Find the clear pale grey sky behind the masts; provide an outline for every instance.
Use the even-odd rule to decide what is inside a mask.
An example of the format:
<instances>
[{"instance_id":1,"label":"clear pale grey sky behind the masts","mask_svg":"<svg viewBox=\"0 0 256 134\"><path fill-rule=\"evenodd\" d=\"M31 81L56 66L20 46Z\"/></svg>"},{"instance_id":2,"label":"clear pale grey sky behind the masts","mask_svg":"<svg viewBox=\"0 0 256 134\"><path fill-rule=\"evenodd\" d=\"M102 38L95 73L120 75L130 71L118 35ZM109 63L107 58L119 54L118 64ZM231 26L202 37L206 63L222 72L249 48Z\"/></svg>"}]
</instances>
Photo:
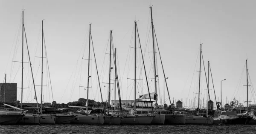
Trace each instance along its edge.
<instances>
[{"instance_id":1,"label":"clear pale grey sky behind the masts","mask_svg":"<svg viewBox=\"0 0 256 134\"><path fill-rule=\"evenodd\" d=\"M152 78L152 39L150 9L153 5L153 21L163 60L171 100L182 100L183 106L191 100L198 101L198 71L200 43L207 70L209 60L217 101L223 105L233 100L244 104L246 100L245 61L248 59L249 100L255 104L253 89L256 80L256 17L253 0L1 0L0 1L0 72L4 81L17 83L21 87L21 17L24 11L24 25L28 40L35 85L41 85L41 20L44 20L44 36L52 81L52 94L57 103L77 101L86 98L86 91L79 86L87 86L88 33L89 23L96 61L102 86L103 100L108 97L109 37L113 29L113 44L117 48L118 68L122 81L121 98L134 100L134 90L128 83L134 78L134 20L137 20L150 91L154 91ZM148 37L149 36L149 37ZM25 41L24 41L24 44ZM24 47L25 49L26 47ZM139 49L137 49L137 52ZM91 51L92 54L92 51ZM139 55L138 53L137 55ZM159 52L157 52L159 54ZM131 55L131 56L130 56ZM89 99L101 101L93 55L91 61L91 79ZM24 61L28 61L24 51ZM137 68L141 68L139 60ZM47 76L44 58L44 76ZM113 64L113 60L112 60ZM163 72L160 60L157 60L159 97L163 96ZM29 70L24 63L23 102L34 102L34 91ZM207 86L202 66L200 98L207 98ZM139 73L140 71L138 71ZM142 72L141 75L144 72ZM113 74L113 73L112 73ZM194 75L193 75L194 74ZM81 78L81 79L80 79ZM138 75L139 79L139 75ZM44 102L52 102L49 83L44 77ZM137 88L139 94L147 93L145 79ZM211 81L211 80L210 80ZM113 83L113 82L111 82ZM113 86L113 84L111 84ZM29 87L29 88L27 88ZM113 87L111 87L113 88ZM165 88L166 89L166 88ZM210 82L210 95L214 92ZM20 88L18 100L20 100ZM36 86L37 96L41 88ZM251 92L253 91L253 93ZM166 92L165 92L166 93ZM111 90L111 100L113 100ZM196 97L197 96L197 97ZM196 97L196 98L195 98ZM226 99L227 98L227 99ZM158 98L161 100L161 98ZM165 94L167 104L170 104ZM187 100L187 101L186 101ZM215 102L215 100L214 100ZM158 102L160 103L160 101Z\"/></svg>"}]
</instances>

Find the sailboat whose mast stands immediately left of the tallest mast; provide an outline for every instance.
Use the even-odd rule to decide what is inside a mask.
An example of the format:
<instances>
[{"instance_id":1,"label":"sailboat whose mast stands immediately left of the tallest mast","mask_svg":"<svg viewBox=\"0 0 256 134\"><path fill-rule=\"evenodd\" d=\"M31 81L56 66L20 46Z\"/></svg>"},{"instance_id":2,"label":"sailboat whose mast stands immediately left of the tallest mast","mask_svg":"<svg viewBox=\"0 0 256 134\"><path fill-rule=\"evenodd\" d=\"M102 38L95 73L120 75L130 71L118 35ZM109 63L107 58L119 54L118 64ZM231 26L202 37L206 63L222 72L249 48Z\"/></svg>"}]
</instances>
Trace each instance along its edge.
<instances>
[{"instance_id":1,"label":"sailboat whose mast stands immediately left of the tallest mast","mask_svg":"<svg viewBox=\"0 0 256 134\"><path fill-rule=\"evenodd\" d=\"M142 102L139 103L136 100L136 49L137 49L137 44L136 44L136 38L137 38L137 22L134 22L135 24L135 30L134 30L134 102L132 103L132 107L131 108L124 108L125 111L128 112L128 114L124 115L121 124L151 124L152 120L154 120L156 114L153 115L153 111L151 111L151 113L148 112L148 109L146 109L144 112L142 112L143 109L139 108L142 105ZM146 104L148 105L148 103ZM144 103L145 106L145 103ZM138 107L138 108L137 108ZM146 107L146 106L145 106ZM153 109L153 108L151 108ZM158 114L157 114L158 115Z\"/></svg>"}]
</instances>

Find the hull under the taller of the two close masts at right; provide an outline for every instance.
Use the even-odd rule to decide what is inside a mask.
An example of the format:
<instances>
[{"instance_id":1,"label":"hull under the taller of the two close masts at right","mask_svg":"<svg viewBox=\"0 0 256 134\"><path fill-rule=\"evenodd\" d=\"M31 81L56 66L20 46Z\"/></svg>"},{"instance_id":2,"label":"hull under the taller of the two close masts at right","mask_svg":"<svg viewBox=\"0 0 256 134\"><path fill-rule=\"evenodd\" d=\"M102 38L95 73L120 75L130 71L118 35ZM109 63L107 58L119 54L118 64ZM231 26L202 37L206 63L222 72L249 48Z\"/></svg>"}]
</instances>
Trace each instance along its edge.
<instances>
[{"instance_id":1,"label":"hull under the taller of the two close masts at right","mask_svg":"<svg viewBox=\"0 0 256 134\"><path fill-rule=\"evenodd\" d=\"M186 116L186 124L209 124L213 123L213 118L202 116Z\"/></svg>"}]
</instances>

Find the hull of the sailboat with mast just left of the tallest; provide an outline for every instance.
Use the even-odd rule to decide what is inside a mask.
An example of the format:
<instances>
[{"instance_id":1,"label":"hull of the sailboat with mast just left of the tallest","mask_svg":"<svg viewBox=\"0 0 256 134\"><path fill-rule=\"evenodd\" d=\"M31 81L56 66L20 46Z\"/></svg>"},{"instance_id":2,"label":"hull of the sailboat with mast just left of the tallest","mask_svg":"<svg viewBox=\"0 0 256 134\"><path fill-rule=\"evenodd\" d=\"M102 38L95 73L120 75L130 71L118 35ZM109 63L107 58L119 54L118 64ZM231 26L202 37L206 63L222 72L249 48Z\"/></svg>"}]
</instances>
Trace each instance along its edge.
<instances>
[{"instance_id":1,"label":"hull of the sailboat with mast just left of the tallest","mask_svg":"<svg viewBox=\"0 0 256 134\"><path fill-rule=\"evenodd\" d=\"M125 116L121 124L150 124L154 116Z\"/></svg>"}]
</instances>

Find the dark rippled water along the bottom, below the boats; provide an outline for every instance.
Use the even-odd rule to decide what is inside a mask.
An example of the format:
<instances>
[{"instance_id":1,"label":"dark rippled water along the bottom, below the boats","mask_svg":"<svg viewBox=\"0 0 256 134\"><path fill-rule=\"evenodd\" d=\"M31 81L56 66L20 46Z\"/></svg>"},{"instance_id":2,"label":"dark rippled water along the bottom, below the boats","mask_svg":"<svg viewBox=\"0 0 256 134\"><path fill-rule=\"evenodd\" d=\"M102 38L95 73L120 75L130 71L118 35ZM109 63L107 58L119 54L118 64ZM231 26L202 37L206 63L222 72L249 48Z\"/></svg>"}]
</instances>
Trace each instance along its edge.
<instances>
[{"instance_id":1,"label":"dark rippled water along the bottom, below the boats","mask_svg":"<svg viewBox=\"0 0 256 134\"><path fill-rule=\"evenodd\" d=\"M256 125L0 125L0 134L256 134Z\"/></svg>"}]
</instances>

